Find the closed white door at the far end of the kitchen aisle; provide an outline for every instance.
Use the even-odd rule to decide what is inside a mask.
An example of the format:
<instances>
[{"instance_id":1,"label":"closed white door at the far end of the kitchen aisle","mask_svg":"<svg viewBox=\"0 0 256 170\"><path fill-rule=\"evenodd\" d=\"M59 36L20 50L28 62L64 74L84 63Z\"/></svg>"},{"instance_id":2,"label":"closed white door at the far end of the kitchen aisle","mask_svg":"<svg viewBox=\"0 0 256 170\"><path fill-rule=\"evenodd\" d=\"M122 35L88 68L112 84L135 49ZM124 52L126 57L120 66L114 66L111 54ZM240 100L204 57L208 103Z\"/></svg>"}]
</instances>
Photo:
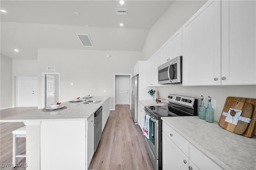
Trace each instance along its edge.
<instances>
[{"instance_id":1,"label":"closed white door at the far end of the kitchen aisle","mask_svg":"<svg viewBox=\"0 0 256 170\"><path fill-rule=\"evenodd\" d=\"M116 104L130 104L130 77L116 77Z\"/></svg>"}]
</instances>

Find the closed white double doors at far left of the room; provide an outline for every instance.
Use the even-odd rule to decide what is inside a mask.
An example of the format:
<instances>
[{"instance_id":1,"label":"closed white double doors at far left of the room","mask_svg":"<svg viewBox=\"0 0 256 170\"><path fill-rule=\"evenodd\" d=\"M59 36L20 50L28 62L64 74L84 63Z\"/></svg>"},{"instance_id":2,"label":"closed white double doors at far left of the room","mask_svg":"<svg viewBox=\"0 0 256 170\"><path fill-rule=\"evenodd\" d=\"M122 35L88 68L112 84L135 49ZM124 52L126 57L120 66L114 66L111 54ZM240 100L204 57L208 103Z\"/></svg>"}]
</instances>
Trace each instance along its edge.
<instances>
[{"instance_id":1,"label":"closed white double doors at far left of the room","mask_svg":"<svg viewBox=\"0 0 256 170\"><path fill-rule=\"evenodd\" d=\"M17 77L17 107L38 106L38 77Z\"/></svg>"}]
</instances>

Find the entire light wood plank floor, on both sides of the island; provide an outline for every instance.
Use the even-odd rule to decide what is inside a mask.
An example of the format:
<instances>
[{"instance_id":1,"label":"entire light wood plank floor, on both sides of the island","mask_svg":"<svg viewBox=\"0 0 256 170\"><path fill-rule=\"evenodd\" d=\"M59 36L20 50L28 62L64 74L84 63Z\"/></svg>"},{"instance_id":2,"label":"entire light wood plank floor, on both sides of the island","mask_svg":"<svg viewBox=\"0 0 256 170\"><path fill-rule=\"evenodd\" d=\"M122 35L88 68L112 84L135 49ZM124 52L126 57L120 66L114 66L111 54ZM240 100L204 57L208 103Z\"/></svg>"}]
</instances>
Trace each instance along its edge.
<instances>
[{"instance_id":1,"label":"entire light wood plank floor, on both sides of the island","mask_svg":"<svg viewBox=\"0 0 256 170\"><path fill-rule=\"evenodd\" d=\"M10 117L26 113L35 107L20 107L1 110L0 117ZM24 123L0 123L0 158L2 163L12 163L12 131ZM19 139L19 151L26 149L26 140ZM26 158L18 158L18 163L26 163ZM1 170L25 170L26 168L3 168ZM144 138L138 125L134 125L130 105L116 105L102 133L100 144L89 169L91 170L153 170L152 163L144 147Z\"/></svg>"}]
</instances>

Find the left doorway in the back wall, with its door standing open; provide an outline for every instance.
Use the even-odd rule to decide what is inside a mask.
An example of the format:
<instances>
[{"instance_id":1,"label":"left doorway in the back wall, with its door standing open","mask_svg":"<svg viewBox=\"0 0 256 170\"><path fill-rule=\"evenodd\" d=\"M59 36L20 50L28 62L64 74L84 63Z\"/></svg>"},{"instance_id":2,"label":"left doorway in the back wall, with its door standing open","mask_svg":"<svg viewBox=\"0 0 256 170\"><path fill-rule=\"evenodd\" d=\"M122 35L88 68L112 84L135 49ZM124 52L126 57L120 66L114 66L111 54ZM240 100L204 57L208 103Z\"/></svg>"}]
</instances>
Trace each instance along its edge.
<instances>
[{"instance_id":1,"label":"left doorway in the back wall, with its door standing open","mask_svg":"<svg viewBox=\"0 0 256 170\"><path fill-rule=\"evenodd\" d=\"M43 73L44 107L60 102L60 73Z\"/></svg>"}]
</instances>

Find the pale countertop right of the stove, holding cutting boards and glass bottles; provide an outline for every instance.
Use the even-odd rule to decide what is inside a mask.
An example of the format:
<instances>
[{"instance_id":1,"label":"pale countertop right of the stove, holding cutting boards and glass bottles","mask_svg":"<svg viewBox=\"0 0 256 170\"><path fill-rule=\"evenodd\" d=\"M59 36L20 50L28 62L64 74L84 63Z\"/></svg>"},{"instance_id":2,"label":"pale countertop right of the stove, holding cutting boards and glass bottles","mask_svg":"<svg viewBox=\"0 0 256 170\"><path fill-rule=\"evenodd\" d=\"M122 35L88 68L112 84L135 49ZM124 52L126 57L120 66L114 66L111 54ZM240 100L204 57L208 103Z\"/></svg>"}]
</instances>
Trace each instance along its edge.
<instances>
[{"instance_id":1,"label":"pale countertop right of the stove, holding cutting boards and glass bottles","mask_svg":"<svg viewBox=\"0 0 256 170\"><path fill-rule=\"evenodd\" d=\"M162 117L191 144L224 169L256 169L256 136L248 138L208 123L197 116Z\"/></svg>"}]
</instances>

